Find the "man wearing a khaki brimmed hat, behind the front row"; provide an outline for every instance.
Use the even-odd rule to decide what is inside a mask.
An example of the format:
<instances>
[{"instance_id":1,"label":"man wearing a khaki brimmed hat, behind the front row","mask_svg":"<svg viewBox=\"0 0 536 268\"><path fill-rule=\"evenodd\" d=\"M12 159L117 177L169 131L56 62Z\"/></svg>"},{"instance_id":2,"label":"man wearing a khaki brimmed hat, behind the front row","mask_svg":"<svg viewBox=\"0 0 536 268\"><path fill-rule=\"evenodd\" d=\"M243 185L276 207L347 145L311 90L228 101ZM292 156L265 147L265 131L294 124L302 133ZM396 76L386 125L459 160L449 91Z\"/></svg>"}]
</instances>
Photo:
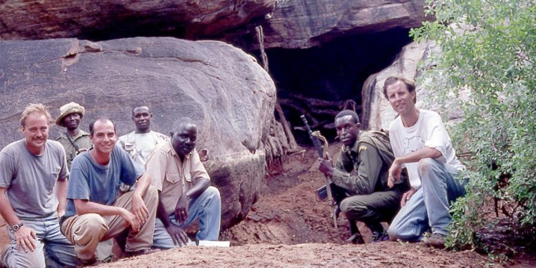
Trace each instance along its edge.
<instances>
[{"instance_id":1,"label":"man wearing a khaki brimmed hat, behind the front row","mask_svg":"<svg viewBox=\"0 0 536 268\"><path fill-rule=\"evenodd\" d=\"M69 169L72 159L77 154L88 151L92 147L88 132L79 129L84 112L86 109L83 106L70 102L59 108L59 116L56 119L56 125L67 129L66 132L61 132L56 141L59 141L65 148Z\"/></svg>"}]
</instances>

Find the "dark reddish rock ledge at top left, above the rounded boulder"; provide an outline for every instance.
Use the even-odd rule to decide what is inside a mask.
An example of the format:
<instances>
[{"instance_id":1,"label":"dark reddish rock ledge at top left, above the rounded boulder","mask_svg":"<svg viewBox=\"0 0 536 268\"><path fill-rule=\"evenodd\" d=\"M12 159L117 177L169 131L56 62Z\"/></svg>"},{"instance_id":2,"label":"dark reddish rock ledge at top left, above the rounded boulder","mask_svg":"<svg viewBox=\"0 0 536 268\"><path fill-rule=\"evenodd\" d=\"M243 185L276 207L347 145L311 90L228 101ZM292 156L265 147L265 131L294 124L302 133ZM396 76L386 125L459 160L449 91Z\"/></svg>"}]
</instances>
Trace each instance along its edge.
<instances>
[{"instance_id":1,"label":"dark reddish rock ledge at top left, above the rounded boulder","mask_svg":"<svg viewBox=\"0 0 536 268\"><path fill-rule=\"evenodd\" d=\"M213 37L272 12L276 0L7 0L0 39Z\"/></svg>"}]
</instances>

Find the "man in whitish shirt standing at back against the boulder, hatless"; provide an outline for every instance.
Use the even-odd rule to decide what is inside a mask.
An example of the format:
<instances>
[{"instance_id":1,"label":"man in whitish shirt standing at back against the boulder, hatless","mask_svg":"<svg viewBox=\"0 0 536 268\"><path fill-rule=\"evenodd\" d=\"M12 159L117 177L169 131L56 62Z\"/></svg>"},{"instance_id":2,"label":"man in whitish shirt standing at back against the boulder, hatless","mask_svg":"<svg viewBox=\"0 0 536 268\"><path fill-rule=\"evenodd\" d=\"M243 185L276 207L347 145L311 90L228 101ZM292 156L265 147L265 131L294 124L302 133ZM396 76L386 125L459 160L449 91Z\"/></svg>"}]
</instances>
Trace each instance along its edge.
<instances>
[{"instance_id":1,"label":"man in whitish shirt standing at back against the boulder, hatless","mask_svg":"<svg viewBox=\"0 0 536 268\"><path fill-rule=\"evenodd\" d=\"M147 157L158 143L168 136L151 130L152 114L147 106L132 109L132 121L136 130L119 137L119 143L128 152L132 160L140 167L145 167Z\"/></svg>"}]
</instances>

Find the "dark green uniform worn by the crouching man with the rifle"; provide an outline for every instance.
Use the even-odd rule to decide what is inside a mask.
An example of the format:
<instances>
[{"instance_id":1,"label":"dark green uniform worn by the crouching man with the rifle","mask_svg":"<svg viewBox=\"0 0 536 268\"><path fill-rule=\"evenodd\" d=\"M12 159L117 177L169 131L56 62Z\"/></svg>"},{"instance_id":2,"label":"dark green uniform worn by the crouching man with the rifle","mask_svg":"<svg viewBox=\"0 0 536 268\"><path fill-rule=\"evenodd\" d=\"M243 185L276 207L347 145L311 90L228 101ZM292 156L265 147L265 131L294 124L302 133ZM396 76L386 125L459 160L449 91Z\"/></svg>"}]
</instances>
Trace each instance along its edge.
<instances>
[{"instance_id":1,"label":"dark green uniform worn by the crouching man with the rifle","mask_svg":"<svg viewBox=\"0 0 536 268\"><path fill-rule=\"evenodd\" d=\"M331 176L335 200L349 220L371 225L390 223L409 189L407 176L393 188L387 186L395 157L385 132L363 131L352 147L344 146ZM372 228L371 228L372 229Z\"/></svg>"}]
</instances>

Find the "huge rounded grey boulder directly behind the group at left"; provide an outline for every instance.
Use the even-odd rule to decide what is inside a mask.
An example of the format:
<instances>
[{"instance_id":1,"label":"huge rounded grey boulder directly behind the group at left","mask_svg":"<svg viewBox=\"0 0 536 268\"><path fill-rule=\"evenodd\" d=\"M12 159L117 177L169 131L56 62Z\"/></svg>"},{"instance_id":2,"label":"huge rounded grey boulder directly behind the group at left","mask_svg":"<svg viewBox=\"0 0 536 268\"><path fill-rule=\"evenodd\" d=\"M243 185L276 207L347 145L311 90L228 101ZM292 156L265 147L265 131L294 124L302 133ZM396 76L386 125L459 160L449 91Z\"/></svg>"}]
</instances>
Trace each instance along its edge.
<instances>
[{"instance_id":1,"label":"huge rounded grey boulder directly behind the group at left","mask_svg":"<svg viewBox=\"0 0 536 268\"><path fill-rule=\"evenodd\" d=\"M155 131L168 134L181 116L197 122L197 147L210 151L205 165L223 199L222 227L255 202L276 91L252 56L219 41L139 37L0 41L0 59L0 147L22 137L19 118L30 102L48 105L52 116L81 103L83 129L107 115L119 134L134 128L132 106L148 105Z\"/></svg>"}]
</instances>

